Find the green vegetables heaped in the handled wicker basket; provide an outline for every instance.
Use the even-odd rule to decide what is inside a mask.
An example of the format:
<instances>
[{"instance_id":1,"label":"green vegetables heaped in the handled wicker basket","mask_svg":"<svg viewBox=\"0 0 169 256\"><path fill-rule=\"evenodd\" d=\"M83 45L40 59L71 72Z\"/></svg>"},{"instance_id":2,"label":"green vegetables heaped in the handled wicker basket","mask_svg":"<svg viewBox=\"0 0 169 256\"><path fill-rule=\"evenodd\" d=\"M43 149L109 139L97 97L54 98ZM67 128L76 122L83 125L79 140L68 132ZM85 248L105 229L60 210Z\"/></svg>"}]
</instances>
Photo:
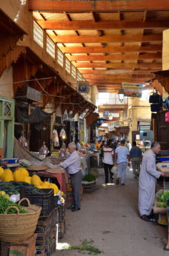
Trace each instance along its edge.
<instances>
[{"instance_id":1,"label":"green vegetables heaped in the handled wicker basket","mask_svg":"<svg viewBox=\"0 0 169 256\"><path fill-rule=\"evenodd\" d=\"M5 196L0 196L0 214L4 214L5 210L9 206L16 206L19 209L19 213L27 213L27 211L21 205L11 202L11 200L6 198ZM14 208L11 208L8 210L7 213L8 214L17 213L17 210Z\"/></svg>"}]
</instances>

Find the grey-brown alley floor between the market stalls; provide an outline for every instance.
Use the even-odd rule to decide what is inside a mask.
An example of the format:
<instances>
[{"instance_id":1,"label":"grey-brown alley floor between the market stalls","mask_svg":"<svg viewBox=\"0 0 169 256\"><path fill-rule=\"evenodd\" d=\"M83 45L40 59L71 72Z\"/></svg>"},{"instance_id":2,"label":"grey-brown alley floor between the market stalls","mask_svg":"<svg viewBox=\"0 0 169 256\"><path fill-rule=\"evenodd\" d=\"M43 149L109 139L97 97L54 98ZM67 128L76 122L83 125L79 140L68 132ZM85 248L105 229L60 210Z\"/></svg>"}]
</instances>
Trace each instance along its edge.
<instances>
[{"instance_id":1,"label":"grey-brown alley floor between the market stalls","mask_svg":"<svg viewBox=\"0 0 169 256\"><path fill-rule=\"evenodd\" d=\"M138 215L138 179L128 172L126 186L104 184L103 169L99 168L96 191L82 196L80 212L66 210L66 234L59 240L52 256L88 255L78 250L62 250L78 246L85 239L103 253L100 256L168 255L163 251L167 228L158 223L140 220Z\"/></svg>"}]
</instances>

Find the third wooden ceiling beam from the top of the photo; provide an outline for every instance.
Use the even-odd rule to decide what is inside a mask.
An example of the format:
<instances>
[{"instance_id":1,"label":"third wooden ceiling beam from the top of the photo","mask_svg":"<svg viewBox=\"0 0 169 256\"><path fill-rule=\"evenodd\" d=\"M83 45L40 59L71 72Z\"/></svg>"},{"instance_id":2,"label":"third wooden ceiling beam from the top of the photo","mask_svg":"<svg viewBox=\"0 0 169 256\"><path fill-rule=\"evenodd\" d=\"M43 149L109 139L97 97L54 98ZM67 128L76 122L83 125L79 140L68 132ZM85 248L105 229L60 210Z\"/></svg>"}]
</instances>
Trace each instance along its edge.
<instances>
[{"instance_id":1,"label":"third wooden ceiling beam from the top of the photo","mask_svg":"<svg viewBox=\"0 0 169 256\"><path fill-rule=\"evenodd\" d=\"M50 35L55 43L82 44L82 43L120 43L120 42L161 42L163 35L103 35L103 36L54 36Z\"/></svg>"}]
</instances>

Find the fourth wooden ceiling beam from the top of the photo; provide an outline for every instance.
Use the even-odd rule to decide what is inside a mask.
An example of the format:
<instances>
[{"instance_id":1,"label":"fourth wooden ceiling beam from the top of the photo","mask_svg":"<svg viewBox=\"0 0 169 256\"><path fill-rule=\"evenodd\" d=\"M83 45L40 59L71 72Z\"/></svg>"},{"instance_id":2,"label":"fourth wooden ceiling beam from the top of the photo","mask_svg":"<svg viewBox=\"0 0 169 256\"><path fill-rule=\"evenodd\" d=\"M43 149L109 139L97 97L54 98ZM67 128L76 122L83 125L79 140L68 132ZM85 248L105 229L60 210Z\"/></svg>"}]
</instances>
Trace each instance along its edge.
<instances>
[{"instance_id":1,"label":"fourth wooden ceiling beam from the top of the photo","mask_svg":"<svg viewBox=\"0 0 169 256\"><path fill-rule=\"evenodd\" d=\"M160 52L161 45L145 45L145 46L86 46L86 47L59 47L64 53L104 53L104 52Z\"/></svg>"}]
</instances>

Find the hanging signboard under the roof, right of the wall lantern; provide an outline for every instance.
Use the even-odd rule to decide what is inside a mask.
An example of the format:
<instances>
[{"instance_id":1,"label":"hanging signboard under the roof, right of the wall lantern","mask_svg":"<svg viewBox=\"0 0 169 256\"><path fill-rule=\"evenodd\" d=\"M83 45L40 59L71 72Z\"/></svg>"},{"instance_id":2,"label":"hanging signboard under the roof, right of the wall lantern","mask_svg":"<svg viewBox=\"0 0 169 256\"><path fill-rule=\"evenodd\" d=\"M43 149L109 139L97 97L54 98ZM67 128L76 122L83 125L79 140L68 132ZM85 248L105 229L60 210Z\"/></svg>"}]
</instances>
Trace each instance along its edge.
<instances>
[{"instance_id":1,"label":"hanging signboard under the roof, right of the wall lantern","mask_svg":"<svg viewBox=\"0 0 169 256\"><path fill-rule=\"evenodd\" d=\"M122 83L125 97L142 97L143 84L138 83Z\"/></svg>"}]
</instances>

